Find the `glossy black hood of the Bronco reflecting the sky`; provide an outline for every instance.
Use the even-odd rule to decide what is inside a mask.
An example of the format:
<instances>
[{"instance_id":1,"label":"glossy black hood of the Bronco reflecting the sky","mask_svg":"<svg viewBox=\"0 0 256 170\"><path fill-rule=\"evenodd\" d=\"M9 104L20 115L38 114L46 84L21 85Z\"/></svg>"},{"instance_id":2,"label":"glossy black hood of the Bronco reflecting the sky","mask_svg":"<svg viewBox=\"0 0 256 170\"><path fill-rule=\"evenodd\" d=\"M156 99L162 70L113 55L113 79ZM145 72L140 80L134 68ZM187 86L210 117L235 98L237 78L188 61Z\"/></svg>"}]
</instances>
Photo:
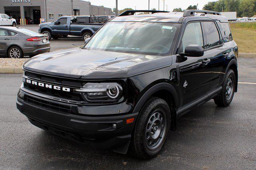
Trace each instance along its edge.
<instances>
[{"instance_id":1,"label":"glossy black hood of the Bronco reflecting the sky","mask_svg":"<svg viewBox=\"0 0 256 170\"><path fill-rule=\"evenodd\" d=\"M33 57L24 64L25 70L70 78L127 78L170 66L170 56L140 55L68 49Z\"/></svg>"}]
</instances>

